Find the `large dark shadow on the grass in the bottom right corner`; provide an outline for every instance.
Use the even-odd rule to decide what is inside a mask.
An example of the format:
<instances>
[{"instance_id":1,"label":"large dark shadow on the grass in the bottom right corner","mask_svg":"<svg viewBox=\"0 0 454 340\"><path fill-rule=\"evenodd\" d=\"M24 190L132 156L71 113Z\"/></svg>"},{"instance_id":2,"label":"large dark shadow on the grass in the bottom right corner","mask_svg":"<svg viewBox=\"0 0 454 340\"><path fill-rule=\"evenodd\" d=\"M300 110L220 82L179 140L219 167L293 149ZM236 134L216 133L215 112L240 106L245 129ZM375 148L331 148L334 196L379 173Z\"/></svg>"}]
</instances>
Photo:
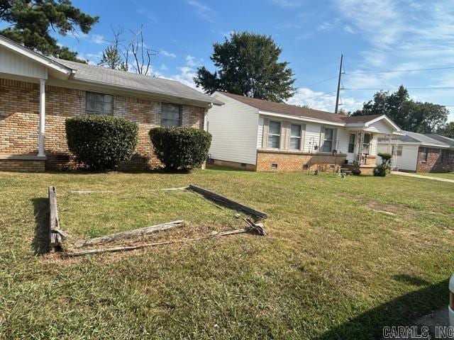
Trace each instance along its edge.
<instances>
[{"instance_id":1,"label":"large dark shadow on the grass in the bottom right corner","mask_svg":"<svg viewBox=\"0 0 454 340\"><path fill-rule=\"evenodd\" d=\"M414 282L425 281L418 279ZM319 339L382 339L383 327L411 326L419 317L448 305L448 282L449 279L446 279L384 302L344 324L333 327Z\"/></svg>"}]
</instances>

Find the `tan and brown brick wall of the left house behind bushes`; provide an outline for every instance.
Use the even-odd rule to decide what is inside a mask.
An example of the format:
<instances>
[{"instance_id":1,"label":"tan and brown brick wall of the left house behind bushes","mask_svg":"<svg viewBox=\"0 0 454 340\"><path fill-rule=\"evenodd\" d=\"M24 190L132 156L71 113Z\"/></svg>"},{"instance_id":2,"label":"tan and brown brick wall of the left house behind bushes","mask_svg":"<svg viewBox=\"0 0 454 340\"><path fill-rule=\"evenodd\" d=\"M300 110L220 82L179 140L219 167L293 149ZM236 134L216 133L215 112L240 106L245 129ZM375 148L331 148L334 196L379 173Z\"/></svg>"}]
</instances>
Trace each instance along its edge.
<instances>
[{"instance_id":1,"label":"tan and brown brick wall of the left house behind bushes","mask_svg":"<svg viewBox=\"0 0 454 340\"><path fill-rule=\"evenodd\" d=\"M46 169L76 166L67 149L65 120L85 114L85 98L82 90L46 86ZM149 169L160 165L148 137L150 128L160 125L160 111L159 101L114 96L114 115L139 123L136 153L121 169ZM183 105L182 125L203 128L204 112L205 108ZM0 79L0 154L37 154L38 123L39 85Z\"/></svg>"}]
</instances>

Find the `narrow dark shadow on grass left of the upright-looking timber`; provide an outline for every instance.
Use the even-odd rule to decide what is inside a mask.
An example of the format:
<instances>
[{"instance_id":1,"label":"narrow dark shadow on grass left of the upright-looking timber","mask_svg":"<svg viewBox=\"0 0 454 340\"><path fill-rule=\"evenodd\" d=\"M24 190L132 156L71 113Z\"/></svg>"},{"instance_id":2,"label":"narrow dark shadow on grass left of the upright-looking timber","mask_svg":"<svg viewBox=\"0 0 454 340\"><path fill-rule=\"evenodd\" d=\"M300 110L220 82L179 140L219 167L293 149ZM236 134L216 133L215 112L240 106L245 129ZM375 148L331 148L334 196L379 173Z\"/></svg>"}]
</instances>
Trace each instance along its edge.
<instances>
[{"instance_id":1,"label":"narrow dark shadow on grass left of the upright-looking timber","mask_svg":"<svg viewBox=\"0 0 454 340\"><path fill-rule=\"evenodd\" d=\"M47 254L49 244L49 199L33 198L33 215L35 216L35 237L31 246L35 255Z\"/></svg>"}]
</instances>

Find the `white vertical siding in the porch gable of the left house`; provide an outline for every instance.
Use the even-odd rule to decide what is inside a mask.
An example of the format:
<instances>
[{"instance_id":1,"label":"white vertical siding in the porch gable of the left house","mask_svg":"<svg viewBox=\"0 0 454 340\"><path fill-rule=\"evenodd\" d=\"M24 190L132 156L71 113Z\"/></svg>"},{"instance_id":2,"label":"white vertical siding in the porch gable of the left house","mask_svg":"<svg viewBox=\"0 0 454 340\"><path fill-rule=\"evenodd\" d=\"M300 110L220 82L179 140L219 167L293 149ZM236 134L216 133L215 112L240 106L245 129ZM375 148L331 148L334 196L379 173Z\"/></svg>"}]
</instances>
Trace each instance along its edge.
<instances>
[{"instance_id":1,"label":"white vertical siding in the porch gable of the left house","mask_svg":"<svg viewBox=\"0 0 454 340\"><path fill-rule=\"evenodd\" d=\"M0 73L48 79L48 70L43 65L4 47L0 47Z\"/></svg>"}]
</instances>

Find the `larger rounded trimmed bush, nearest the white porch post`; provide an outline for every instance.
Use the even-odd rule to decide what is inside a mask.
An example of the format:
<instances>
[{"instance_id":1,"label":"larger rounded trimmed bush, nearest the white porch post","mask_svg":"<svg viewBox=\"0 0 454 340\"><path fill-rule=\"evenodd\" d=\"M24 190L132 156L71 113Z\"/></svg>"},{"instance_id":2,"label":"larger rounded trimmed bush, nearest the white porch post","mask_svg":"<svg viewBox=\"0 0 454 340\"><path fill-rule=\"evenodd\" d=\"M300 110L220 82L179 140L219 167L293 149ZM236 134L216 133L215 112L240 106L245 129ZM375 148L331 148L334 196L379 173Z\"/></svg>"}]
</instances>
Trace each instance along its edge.
<instances>
[{"instance_id":1,"label":"larger rounded trimmed bush, nearest the white porch post","mask_svg":"<svg viewBox=\"0 0 454 340\"><path fill-rule=\"evenodd\" d=\"M66 138L77 162L94 171L114 170L131 159L138 124L107 115L81 115L66 120Z\"/></svg>"}]
</instances>

